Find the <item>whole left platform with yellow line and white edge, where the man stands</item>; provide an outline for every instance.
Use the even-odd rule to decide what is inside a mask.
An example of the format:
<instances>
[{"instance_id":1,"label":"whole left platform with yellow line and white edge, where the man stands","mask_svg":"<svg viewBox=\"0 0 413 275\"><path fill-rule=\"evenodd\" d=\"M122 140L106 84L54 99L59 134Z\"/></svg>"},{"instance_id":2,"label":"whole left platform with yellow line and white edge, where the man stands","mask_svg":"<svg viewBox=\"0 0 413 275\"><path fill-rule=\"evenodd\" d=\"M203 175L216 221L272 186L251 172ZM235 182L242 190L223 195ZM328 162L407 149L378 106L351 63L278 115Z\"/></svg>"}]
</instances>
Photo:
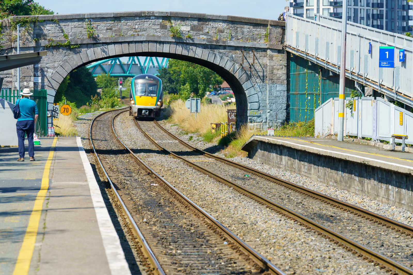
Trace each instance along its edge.
<instances>
[{"instance_id":1,"label":"whole left platform with yellow line and white edge, where the man stands","mask_svg":"<svg viewBox=\"0 0 413 275\"><path fill-rule=\"evenodd\" d=\"M80 137L40 141L0 148L0 275L131 274Z\"/></svg>"}]
</instances>

